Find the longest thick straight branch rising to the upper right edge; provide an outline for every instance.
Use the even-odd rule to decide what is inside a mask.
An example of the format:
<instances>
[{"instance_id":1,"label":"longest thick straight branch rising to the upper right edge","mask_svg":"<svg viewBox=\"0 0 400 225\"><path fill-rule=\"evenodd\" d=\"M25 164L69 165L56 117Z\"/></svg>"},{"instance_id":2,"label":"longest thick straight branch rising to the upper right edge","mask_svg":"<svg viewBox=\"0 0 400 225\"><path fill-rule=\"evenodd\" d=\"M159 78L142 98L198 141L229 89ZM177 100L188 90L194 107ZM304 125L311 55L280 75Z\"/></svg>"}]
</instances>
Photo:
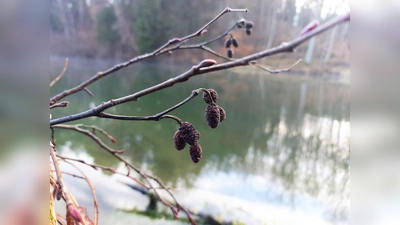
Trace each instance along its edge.
<instances>
[{"instance_id":1,"label":"longest thick straight branch rising to the upper right edge","mask_svg":"<svg viewBox=\"0 0 400 225\"><path fill-rule=\"evenodd\" d=\"M230 62L216 64L216 65L209 66L209 67L199 68L200 64L198 64L196 66L193 66L188 71L186 71L174 78L168 79L162 83L159 83L152 87L146 88L146 89L136 92L134 94L127 95L127 96L124 96L124 97L121 97L118 99L109 100L109 101L104 102L90 110L87 110L87 111L84 111L81 113L53 119L50 121L50 125L65 123L65 122L79 120L79 119L92 117L92 116L98 116L104 110L111 108L115 105L123 104L126 102L131 102L131 101L137 101L142 96L148 95L150 93L154 93L156 91L163 90L163 89L171 87L177 83L187 81L188 79L190 79L191 77L196 76L196 75L210 73L213 71L225 70L228 68L233 68L233 67L238 67L238 66L248 66L248 65L250 65L250 62L260 59L260 58L264 58L264 57L267 57L270 55L275 55L275 54L283 53L283 52L293 52L294 48L296 48L301 43L307 41L311 37L313 37L317 34L320 34L324 31L336 26L337 24L344 23L348 20L350 20L350 13L347 13L343 16L334 18L334 19L326 22L325 24L315 28L314 30L310 31L309 33L307 33L303 36L297 37L296 39L294 39L288 43L281 44L277 47L267 49L267 50L264 50L264 51L261 51L258 53L254 53L252 55L249 55L249 56L246 56L246 57L243 57L240 59L236 59L236 60L233 60Z\"/></svg>"}]
</instances>

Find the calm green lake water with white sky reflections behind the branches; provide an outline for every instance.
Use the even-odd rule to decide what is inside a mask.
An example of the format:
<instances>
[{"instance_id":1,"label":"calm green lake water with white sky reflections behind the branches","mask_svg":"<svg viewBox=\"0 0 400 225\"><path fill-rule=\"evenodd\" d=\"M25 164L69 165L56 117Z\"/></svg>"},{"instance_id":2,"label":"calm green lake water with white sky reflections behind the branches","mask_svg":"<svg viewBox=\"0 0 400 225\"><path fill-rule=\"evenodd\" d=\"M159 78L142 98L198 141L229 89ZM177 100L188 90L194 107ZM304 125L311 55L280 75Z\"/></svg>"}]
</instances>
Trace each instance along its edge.
<instances>
[{"instance_id":1,"label":"calm green lake water with white sky reflections behind the branches","mask_svg":"<svg viewBox=\"0 0 400 225\"><path fill-rule=\"evenodd\" d=\"M63 59L54 57L51 62L55 77L62 69ZM114 63L70 58L67 72L51 88L51 96ZM89 86L95 97L85 92L67 97L64 100L70 105L53 109L53 118L134 93L188 68L156 63L133 65ZM96 125L113 135L117 143L104 142L115 149L124 148L124 158L177 189L177 199L192 210L257 225L349 223L348 85L241 68L196 76L108 112L153 115L199 87L217 90L217 103L225 109L226 121L216 129L209 128L201 97L170 113L191 122L201 133L203 158L198 164L191 161L188 147L183 151L174 149L172 136L178 125L172 120L88 118L76 123ZM56 130L56 138L61 154L127 171L86 136ZM121 209L144 210L147 206L147 197L121 183L134 182L79 166L96 187L100 224L186 224L124 212ZM67 165L63 168L78 173ZM93 202L86 183L68 176L65 179L92 217Z\"/></svg>"}]
</instances>

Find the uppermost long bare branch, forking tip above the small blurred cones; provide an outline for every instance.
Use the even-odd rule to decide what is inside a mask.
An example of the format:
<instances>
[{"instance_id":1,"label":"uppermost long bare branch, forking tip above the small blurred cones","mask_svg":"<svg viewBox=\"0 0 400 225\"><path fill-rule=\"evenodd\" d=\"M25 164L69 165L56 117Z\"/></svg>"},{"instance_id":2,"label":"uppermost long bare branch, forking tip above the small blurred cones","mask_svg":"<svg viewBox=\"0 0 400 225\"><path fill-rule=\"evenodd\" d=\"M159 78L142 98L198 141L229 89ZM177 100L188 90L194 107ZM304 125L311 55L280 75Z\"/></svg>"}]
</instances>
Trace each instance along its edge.
<instances>
[{"instance_id":1,"label":"uppermost long bare branch, forking tip above the small blurred cones","mask_svg":"<svg viewBox=\"0 0 400 225\"><path fill-rule=\"evenodd\" d=\"M85 87L87 87L88 85L92 84L93 82L97 81L98 79L107 76L109 74L112 74L122 68L125 68L129 65L132 65L134 63L137 63L139 61L142 61L144 59L148 59L151 57L155 57L158 55L159 52L161 52L162 50L164 50L165 48L167 48L168 46L172 45L172 44L177 44L177 43L182 43L182 42L186 42L187 40L196 37L196 36L200 36L202 33L204 33L204 30L206 30L209 26L211 26L215 21L217 21L221 16L223 16L226 13L230 13L230 12L248 12L247 9L231 9L231 8L225 8L221 13L219 13L216 17L214 17L210 22L208 22L206 25L204 25L203 27L201 27L199 30L197 30L196 32L194 32L193 34L187 35L185 37L182 38L173 38L169 41L167 41L164 45L162 45L161 47L159 47L158 49L154 50L151 53L147 53L144 55L140 55L137 57L134 57L132 59L130 59L129 61L114 65L113 67L102 71L102 72L98 72L96 75L94 75L93 77L91 77L90 79L86 80L85 82L79 84L78 86L71 88L69 90L65 90L59 94L57 94L56 96L53 96L50 99L50 105L55 104L56 102L60 101L62 98L65 98L66 96L69 96L71 94L74 94L78 91L81 91L82 89L84 89Z\"/></svg>"}]
</instances>

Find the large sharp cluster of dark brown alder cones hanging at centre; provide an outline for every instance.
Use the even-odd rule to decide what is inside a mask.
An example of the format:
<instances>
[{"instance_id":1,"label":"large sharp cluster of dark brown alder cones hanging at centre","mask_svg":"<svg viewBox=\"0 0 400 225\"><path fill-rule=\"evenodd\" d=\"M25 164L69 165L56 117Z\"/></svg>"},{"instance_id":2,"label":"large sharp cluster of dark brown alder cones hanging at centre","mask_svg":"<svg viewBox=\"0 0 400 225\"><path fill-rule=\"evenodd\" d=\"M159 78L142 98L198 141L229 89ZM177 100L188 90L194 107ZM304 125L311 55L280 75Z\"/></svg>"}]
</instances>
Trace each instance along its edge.
<instances>
[{"instance_id":1,"label":"large sharp cluster of dark brown alder cones hanging at centre","mask_svg":"<svg viewBox=\"0 0 400 225\"><path fill-rule=\"evenodd\" d=\"M218 100L218 93L214 89L207 89L203 92L203 99L208 104L205 110L205 117L208 126L216 128L218 124L226 119L225 110L215 104ZM190 145L189 153L194 163L200 162L203 155L198 140L200 132L189 122L182 122L179 129L174 134L174 145L177 150L182 150L186 144Z\"/></svg>"}]
</instances>

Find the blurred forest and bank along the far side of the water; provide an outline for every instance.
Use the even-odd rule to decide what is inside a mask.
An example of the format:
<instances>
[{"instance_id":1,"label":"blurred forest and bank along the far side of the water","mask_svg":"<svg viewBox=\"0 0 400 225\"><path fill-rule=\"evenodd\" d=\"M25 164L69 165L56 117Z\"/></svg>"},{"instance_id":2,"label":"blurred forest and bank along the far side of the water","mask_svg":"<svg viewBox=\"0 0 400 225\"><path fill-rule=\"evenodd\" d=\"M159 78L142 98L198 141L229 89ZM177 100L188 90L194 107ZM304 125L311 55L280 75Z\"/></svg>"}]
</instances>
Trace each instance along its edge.
<instances>
[{"instance_id":1,"label":"blurred forest and bank along the far side of the water","mask_svg":"<svg viewBox=\"0 0 400 225\"><path fill-rule=\"evenodd\" d=\"M248 8L249 13L221 18L203 37L211 39L241 18L254 22L253 32L232 34L239 42L234 57L243 57L296 38L313 20L323 23L348 9L346 0L50 0L50 47L52 55L126 60L147 53L167 40L194 32L222 9ZM285 67L303 58L306 63L293 73L349 75L349 23L312 38L293 54L262 60L271 67ZM210 46L226 54L223 40ZM201 50L179 51L175 61L198 62L207 56ZM213 56L213 58L215 58ZM191 61L188 62L188 59ZM312 65L312 70L311 66Z\"/></svg>"}]
</instances>

